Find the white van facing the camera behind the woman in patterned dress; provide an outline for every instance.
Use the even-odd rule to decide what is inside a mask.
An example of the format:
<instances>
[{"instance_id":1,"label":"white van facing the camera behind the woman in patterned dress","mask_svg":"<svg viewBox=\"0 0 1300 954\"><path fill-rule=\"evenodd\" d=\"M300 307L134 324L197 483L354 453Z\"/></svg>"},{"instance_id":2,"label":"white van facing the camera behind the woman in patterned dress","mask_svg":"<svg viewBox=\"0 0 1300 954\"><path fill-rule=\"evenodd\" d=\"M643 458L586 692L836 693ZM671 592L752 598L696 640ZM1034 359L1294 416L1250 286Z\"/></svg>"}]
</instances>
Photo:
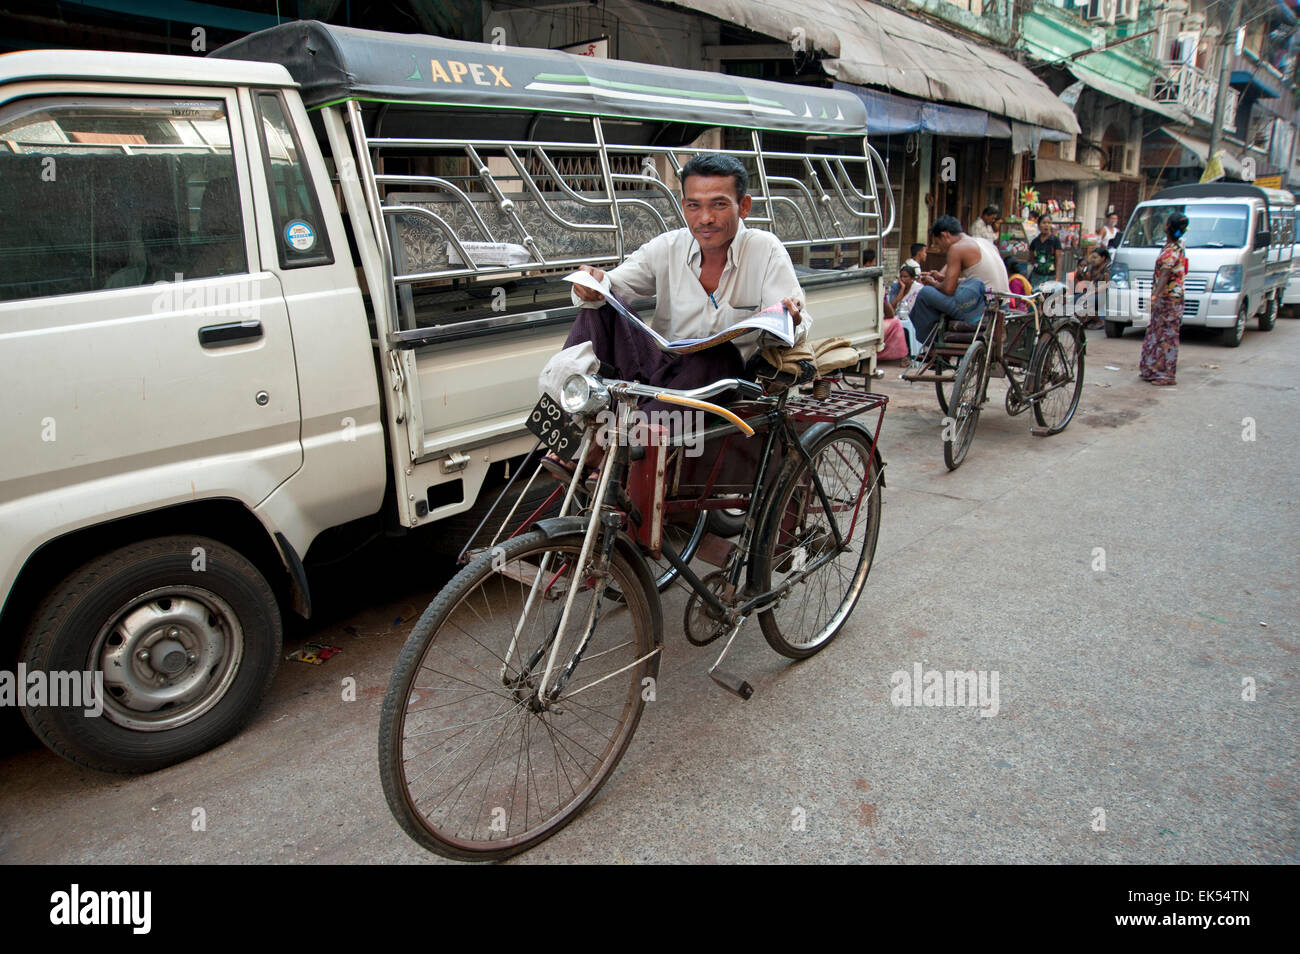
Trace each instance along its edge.
<instances>
[{"instance_id":1,"label":"white van facing the camera behind the woman in patterned dress","mask_svg":"<svg viewBox=\"0 0 1300 954\"><path fill-rule=\"evenodd\" d=\"M1110 266L1106 337L1145 328L1156 257L1165 244L1165 222L1187 216L1187 279L1183 324L1219 328L1236 347L1254 315L1260 330L1277 320L1291 277L1295 196L1277 188L1212 182L1164 188L1138 205Z\"/></svg>"}]
</instances>

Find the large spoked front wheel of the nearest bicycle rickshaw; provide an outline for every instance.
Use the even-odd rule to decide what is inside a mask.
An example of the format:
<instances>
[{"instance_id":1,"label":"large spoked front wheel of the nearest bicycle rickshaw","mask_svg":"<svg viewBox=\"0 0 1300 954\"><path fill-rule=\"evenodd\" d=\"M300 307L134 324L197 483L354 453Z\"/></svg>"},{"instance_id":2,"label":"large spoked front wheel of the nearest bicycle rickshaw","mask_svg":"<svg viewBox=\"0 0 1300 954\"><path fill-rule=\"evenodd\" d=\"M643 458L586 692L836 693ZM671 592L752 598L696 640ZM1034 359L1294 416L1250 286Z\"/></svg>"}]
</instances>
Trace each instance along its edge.
<instances>
[{"instance_id":1,"label":"large spoked front wheel of the nearest bicycle rickshaw","mask_svg":"<svg viewBox=\"0 0 1300 954\"><path fill-rule=\"evenodd\" d=\"M599 790L632 741L642 680L658 672L642 577L618 552L610 576L577 565L582 534L529 533L465 567L420 617L380 716L384 794L416 842L497 860L550 837ZM625 606L612 603L612 580ZM594 611L559 699L538 688L571 590L555 676Z\"/></svg>"}]
</instances>

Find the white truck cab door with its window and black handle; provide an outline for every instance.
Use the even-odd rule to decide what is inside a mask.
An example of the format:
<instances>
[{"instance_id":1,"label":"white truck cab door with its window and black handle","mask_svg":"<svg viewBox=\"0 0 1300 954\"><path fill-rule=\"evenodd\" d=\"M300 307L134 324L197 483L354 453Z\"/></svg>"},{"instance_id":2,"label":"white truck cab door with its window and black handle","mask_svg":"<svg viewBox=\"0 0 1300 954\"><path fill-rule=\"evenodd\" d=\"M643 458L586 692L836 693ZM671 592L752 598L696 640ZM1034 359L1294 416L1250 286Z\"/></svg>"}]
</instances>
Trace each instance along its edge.
<instances>
[{"instance_id":1,"label":"white truck cab door with its window and black handle","mask_svg":"<svg viewBox=\"0 0 1300 954\"><path fill-rule=\"evenodd\" d=\"M0 461L0 512L49 538L205 496L255 506L303 454L237 91L32 86L0 104L0 445L29 448Z\"/></svg>"}]
</instances>

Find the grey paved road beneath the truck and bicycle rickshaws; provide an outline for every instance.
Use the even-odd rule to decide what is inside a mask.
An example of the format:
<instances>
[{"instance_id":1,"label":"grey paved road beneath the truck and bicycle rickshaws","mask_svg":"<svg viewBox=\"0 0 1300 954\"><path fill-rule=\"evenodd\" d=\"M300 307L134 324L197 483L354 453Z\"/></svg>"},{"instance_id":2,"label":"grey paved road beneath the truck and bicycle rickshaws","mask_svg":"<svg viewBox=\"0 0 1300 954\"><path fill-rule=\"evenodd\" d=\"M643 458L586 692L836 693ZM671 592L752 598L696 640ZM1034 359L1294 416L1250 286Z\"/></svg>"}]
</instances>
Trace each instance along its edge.
<instances>
[{"instance_id":1,"label":"grey paved road beneath the truck and bicycle rickshaws","mask_svg":"<svg viewBox=\"0 0 1300 954\"><path fill-rule=\"evenodd\" d=\"M1300 862L1300 321L1238 350L1188 337L1179 386L1153 389L1139 338L1092 333L1069 430L1031 437L994 403L952 474L932 387L890 372L880 546L838 639L792 665L754 626L740 702L670 598L658 699L623 764L519 860ZM4 756L0 860L441 860L390 819L376 732L446 573L410 551L337 569L325 620L287 649L344 652L283 663L252 727L183 766ZM916 665L996 672L997 714L892 704Z\"/></svg>"}]
</instances>

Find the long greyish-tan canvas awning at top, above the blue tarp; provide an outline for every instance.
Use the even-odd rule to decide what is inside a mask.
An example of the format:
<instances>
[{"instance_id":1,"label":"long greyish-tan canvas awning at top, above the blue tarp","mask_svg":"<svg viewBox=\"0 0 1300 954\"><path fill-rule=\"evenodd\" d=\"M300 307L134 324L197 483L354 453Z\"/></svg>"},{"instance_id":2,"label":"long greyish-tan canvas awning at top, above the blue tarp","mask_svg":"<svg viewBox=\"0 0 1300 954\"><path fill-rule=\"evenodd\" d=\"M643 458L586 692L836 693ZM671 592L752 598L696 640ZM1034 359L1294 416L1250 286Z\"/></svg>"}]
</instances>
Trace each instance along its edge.
<instances>
[{"instance_id":1,"label":"long greyish-tan canvas awning at top, above the blue tarp","mask_svg":"<svg viewBox=\"0 0 1300 954\"><path fill-rule=\"evenodd\" d=\"M1078 134L1074 110L997 51L867 0L667 0L805 49L836 79Z\"/></svg>"}]
</instances>

